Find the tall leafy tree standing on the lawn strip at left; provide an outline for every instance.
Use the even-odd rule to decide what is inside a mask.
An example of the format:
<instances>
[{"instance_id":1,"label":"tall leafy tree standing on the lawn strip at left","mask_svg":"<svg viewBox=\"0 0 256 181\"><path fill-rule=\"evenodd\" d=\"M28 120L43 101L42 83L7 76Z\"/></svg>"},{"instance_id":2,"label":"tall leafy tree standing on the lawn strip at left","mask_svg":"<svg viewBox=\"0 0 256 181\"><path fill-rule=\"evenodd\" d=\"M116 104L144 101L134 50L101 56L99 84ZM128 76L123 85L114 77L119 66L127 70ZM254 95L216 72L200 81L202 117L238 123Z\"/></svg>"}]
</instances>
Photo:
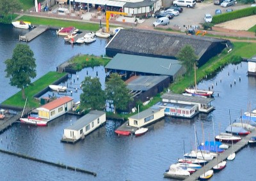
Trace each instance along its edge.
<instances>
[{"instance_id":1,"label":"tall leafy tree standing on the lawn strip at left","mask_svg":"<svg viewBox=\"0 0 256 181\"><path fill-rule=\"evenodd\" d=\"M31 78L36 77L36 63L34 53L28 45L17 44L13 50L12 59L7 59L6 78L10 78L10 85L22 89L22 98L26 99L24 88L31 85Z\"/></svg>"}]
</instances>

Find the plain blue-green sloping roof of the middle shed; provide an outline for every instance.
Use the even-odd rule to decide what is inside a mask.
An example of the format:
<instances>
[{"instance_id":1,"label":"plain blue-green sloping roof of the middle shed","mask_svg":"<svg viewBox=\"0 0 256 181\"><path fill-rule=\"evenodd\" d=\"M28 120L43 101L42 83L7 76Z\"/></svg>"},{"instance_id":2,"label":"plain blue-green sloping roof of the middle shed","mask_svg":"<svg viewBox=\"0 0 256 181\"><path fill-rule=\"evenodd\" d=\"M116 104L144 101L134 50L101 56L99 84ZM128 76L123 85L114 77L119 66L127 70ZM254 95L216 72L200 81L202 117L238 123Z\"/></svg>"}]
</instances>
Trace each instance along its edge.
<instances>
[{"instance_id":1,"label":"plain blue-green sloping roof of the middle shed","mask_svg":"<svg viewBox=\"0 0 256 181\"><path fill-rule=\"evenodd\" d=\"M175 59L116 54L105 68L173 76L182 65Z\"/></svg>"}]
</instances>

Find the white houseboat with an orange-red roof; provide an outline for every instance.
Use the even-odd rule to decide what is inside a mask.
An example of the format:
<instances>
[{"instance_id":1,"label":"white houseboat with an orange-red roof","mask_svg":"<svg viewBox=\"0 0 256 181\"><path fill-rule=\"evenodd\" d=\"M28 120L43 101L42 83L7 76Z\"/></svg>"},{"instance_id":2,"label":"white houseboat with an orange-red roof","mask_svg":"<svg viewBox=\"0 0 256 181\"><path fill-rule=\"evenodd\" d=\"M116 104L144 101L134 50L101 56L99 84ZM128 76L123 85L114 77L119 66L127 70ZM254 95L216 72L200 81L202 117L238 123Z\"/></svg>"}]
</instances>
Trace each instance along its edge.
<instances>
[{"instance_id":1,"label":"white houseboat with an orange-red roof","mask_svg":"<svg viewBox=\"0 0 256 181\"><path fill-rule=\"evenodd\" d=\"M42 105L39 108L36 108L36 110L38 110L38 117L46 119L47 121L55 119L72 110L72 101L72 98L64 96Z\"/></svg>"}]
</instances>

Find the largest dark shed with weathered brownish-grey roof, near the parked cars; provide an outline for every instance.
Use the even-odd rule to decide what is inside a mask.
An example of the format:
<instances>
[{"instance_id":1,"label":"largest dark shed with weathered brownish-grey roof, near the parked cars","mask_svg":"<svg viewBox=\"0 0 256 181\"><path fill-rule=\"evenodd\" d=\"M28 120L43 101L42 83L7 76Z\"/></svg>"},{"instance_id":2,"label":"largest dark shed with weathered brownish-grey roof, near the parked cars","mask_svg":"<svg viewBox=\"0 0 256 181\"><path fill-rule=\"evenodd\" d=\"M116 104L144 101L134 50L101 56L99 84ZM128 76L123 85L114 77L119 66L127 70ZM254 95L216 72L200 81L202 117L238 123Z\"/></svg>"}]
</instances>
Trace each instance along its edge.
<instances>
[{"instance_id":1,"label":"largest dark shed with weathered brownish-grey roof, near the parked cars","mask_svg":"<svg viewBox=\"0 0 256 181\"><path fill-rule=\"evenodd\" d=\"M122 53L176 59L177 54L185 45L191 45L195 49L198 66L202 66L209 59L220 54L224 48L232 46L229 40L207 36L188 36L144 29L121 29L106 45L106 55L115 57L116 54Z\"/></svg>"}]
</instances>

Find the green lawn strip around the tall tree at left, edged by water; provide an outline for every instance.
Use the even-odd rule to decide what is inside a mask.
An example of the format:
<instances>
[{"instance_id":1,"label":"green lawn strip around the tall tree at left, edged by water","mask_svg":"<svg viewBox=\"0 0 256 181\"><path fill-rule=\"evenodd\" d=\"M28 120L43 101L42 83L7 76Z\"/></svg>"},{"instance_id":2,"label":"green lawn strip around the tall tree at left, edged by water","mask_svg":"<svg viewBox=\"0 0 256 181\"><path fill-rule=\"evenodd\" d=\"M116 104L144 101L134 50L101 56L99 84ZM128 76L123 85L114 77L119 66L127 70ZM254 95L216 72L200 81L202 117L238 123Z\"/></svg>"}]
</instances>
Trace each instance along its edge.
<instances>
[{"instance_id":1,"label":"green lawn strip around the tall tree at left, edged by water","mask_svg":"<svg viewBox=\"0 0 256 181\"><path fill-rule=\"evenodd\" d=\"M56 71L50 71L49 73L45 74L35 82L33 82L33 85L29 85L25 88L25 95L28 98L26 107L28 108L37 108L40 106L40 101L33 98L35 94L45 89L45 87L48 87L48 85L52 84L53 82L56 82L56 80L59 80L62 76L66 75L67 73L57 73ZM25 104L25 100L22 99L22 92L19 91L17 94L14 94L12 97L6 99L2 105L8 105L8 106L16 106L23 108Z\"/></svg>"}]
</instances>

